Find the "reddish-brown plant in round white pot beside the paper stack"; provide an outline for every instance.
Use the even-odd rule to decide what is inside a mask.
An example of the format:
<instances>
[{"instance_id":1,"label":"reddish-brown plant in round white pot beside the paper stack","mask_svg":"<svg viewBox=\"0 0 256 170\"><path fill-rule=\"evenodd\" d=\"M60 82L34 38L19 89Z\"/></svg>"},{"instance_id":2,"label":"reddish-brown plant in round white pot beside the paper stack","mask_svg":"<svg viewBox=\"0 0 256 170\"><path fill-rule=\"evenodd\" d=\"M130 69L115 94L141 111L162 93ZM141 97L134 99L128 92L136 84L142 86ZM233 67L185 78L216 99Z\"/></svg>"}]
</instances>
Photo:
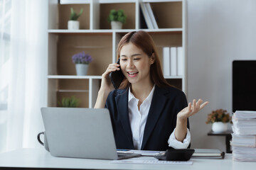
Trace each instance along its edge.
<instances>
[{"instance_id":1,"label":"reddish-brown plant in round white pot beside the paper stack","mask_svg":"<svg viewBox=\"0 0 256 170\"><path fill-rule=\"evenodd\" d=\"M228 130L228 124L231 120L230 114L223 109L212 111L208 114L206 124L213 123L213 132L225 132Z\"/></svg>"}]
</instances>

